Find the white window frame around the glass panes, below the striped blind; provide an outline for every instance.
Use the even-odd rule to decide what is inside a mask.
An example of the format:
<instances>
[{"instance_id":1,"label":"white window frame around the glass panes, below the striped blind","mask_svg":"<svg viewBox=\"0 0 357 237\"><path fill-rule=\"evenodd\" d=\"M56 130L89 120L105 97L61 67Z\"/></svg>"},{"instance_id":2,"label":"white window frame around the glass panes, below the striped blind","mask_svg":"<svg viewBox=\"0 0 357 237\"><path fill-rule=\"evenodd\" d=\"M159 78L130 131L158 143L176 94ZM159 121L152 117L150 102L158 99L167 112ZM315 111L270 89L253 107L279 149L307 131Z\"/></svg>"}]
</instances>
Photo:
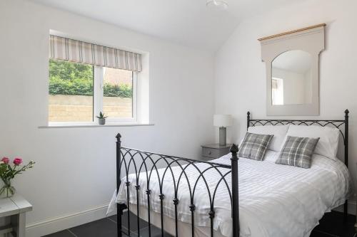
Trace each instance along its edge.
<instances>
[{"instance_id":1,"label":"white window frame around the glass panes, below the striped blind","mask_svg":"<svg viewBox=\"0 0 357 237\"><path fill-rule=\"evenodd\" d=\"M47 115L47 121L49 126L80 126L80 125L98 125L99 112L103 111L104 100L104 66L93 65L93 117L92 121L88 122L75 122L75 121L63 121L63 122L50 122ZM132 73L132 115L133 117L108 117L106 118L107 125L131 125L139 124L139 77L140 73L137 71L131 71ZM47 87L48 88L48 87ZM49 95L49 93L47 93ZM47 103L49 105L49 103ZM49 106L47 106L49 110Z\"/></svg>"}]
</instances>

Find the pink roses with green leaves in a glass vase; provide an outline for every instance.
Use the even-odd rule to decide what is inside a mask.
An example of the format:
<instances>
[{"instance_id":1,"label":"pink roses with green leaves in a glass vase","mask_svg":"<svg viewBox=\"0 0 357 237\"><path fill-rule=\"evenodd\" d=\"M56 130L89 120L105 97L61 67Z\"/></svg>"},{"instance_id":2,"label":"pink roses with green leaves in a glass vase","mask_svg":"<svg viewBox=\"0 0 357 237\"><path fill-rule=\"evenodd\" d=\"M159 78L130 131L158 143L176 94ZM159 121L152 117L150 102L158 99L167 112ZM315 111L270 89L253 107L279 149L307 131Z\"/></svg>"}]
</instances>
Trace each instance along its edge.
<instances>
[{"instance_id":1,"label":"pink roses with green leaves in a glass vase","mask_svg":"<svg viewBox=\"0 0 357 237\"><path fill-rule=\"evenodd\" d=\"M11 180L14 179L17 174L22 174L22 172L25 172L27 169L34 167L35 164L35 162L31 161L29 164L20 167L22 159L19 157L15 158L12 162L14 165L9 164L9 162L10 159L7 157L4 157L0 161L0 178L4 182L4 185L0 189L0 198L13 196L16 189L14 186L11 186Z\"/></svg>"}]
</instances>

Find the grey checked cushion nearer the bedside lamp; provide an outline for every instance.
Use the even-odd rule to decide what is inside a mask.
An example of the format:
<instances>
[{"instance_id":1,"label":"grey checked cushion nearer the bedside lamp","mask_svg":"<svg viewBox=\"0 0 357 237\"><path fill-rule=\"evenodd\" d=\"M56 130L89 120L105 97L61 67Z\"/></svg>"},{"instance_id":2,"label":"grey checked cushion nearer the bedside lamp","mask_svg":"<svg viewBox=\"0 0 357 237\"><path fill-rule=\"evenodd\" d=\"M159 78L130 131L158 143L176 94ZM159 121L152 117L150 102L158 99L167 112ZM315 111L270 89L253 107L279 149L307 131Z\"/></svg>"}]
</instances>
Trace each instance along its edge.
<instances>
[{"instance_id":1,"label":"grey checked cushion nearer the bedside lamp","mask_svg":"<svg viewBox=\"0 0 357 237\"><path fill-rule=\"evenodd\" d=\"M259 135L247 132L239 149L238 157L262 160L272 137L273 135Z\"/></svg>"}]
</instances>

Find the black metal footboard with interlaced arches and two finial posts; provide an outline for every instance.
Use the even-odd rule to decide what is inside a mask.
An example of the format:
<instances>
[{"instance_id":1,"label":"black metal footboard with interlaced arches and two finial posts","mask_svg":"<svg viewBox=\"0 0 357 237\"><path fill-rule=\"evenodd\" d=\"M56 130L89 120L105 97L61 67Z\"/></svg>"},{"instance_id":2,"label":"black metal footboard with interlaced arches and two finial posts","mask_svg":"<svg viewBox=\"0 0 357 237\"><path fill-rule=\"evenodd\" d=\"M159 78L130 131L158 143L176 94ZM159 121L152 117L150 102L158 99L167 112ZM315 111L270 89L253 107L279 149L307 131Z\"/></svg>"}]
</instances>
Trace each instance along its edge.
<instances>
[{"instance_id":1,"label":"black metal footboard with interlaced arches and two finial posts","mask_svg":"<svg viewBox=\"0 0 357 237\"><path fill-rule=\"evenodd\" d=\"M131 185L128 175L129 175L129 169L131 164L133 165L133 168L135 170L136 174L136 184L135 184L135 189L136 189L136 218L137 218L137 226L138 226L138 236L140 236L140 214L139 214L139 191L143 189L143 191L146 192L147 196L147 206L148 210L150 209L150 200L153 198L151 197L151 189L150 189L150 180L151 180L151 174L153 172L156 172L158 181L159 181L159 189L160 189L160 194L159 198L160 199L160 206L161 206L161 236L164 236L164 206L163 206L163 199L165 198L165 194L162 193L162 186L164 183L164 177L166 172L169 171L171 173L173 179L174 179L174 200L173 205L175 207L175 233L176 236L178 236L178 211L177 211L177 206L179 204L178 200L178 187L181 181L181 178L186 179L186 182L188 184L188 189L190 191L190 200L191 204L187 206L189 210L191 211L191 233L192 236L194 236L194 211L196 210L196 205L194 204L194 194L196 191L196 185L198 184L198 181L201 179L203 180L204 184L206 184L206 191L208 194L208 198L210 201L210 211L208 212L208 217L211 219L211 236L213 236L213 218L215 217L215 211L214 211L214 201L215 201L215 196L216 196L216 190L218 189L219 185L225 185L228 191L228 195L231 199L231 206L232 206L232 221L233 223L233 237L238 237L239 236L239 214L238 214L238 157L237 157L237 152L238 152L238 147L233 144L230 151L232 154L231 157L231 165L227 164L218 164L214 162L204 162L204 161L198 161L195 159L187 159L187 158L182 158L182 157L174 157L174 156L168 156L164 154L157 154L153 152L145 152L141 151L138 149L131 149L131 148L126 148L126 147L121 147L121 135L118 134L116 135L116 191L117 193L119 192L119 187L121 185L121 169L124 167L124 172L126 175L126 194L128 195L126 197L127 203L129 203L129 186ZM126 160L125 158L128 158ZM137 158L137 159L135 159ZM139 161L140 164L137 164ZM165 169L164 175L160 180L160 176L158 173L158 162L165 162L167 167ZM208 164L208 168L204 169L203 171L198 169L196 164L199 163L204 163ZM124 166L123 166L124 164ZM149 164L151 167L149 167ZM174 174L172 172L172 167L180 167L181 168L181 174L178 178L177 181L175 181ZM186 174L186 169L187 167L195 167L196 171L198 172L198 178L196 179L194 185L190 184L188 181L188 175ZM226 172L221 172L220 169L226 169ZM209 189L207 185L206 178L204 177L205 172L207 172L210 169L214 169L217 171L217 174L220 175L221 177L218 177L217 184L215 188ZM140 172L146 172L146 186L141 187L139 185L139 174ZM232 182L232 191L228 188L228 182L225 179L228 174L231 174L231 182ZM145 190L144 190L145 189ZM130 205L126 204L117 204L117 233L118 236L122 236L124 233L126 236L131 236L131 229L130 229ZM128 215L128 230L125 232L121 226L121 216L124 214L124 210L127 209L127 215ZM151 218L150 218L150 211L148 211L148 222L149 222L149 236L151 236Z\"/></svg>"}]
</instances>

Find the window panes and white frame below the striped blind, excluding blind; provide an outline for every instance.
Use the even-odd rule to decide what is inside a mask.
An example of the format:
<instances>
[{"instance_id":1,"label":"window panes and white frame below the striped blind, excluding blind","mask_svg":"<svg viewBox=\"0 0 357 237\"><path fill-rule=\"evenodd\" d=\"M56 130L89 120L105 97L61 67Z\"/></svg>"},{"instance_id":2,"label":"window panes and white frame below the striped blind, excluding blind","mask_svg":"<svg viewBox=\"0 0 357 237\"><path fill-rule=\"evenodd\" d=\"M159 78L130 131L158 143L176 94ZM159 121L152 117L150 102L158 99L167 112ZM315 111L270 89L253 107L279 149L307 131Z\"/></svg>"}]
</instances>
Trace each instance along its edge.
<instances>
[{"instance_id":1,"label":"window panes and white frame below the striped blind, excluding blind","mask_svg":"<svg viewBox=\"0 0 357 237\"><path fill-rule=\"evenodd\" d=\"M97 86L95 86L97 85ZM136 120L136 73L64 60L49 60L49 122Z\"/></svg>"}]
</instances>

